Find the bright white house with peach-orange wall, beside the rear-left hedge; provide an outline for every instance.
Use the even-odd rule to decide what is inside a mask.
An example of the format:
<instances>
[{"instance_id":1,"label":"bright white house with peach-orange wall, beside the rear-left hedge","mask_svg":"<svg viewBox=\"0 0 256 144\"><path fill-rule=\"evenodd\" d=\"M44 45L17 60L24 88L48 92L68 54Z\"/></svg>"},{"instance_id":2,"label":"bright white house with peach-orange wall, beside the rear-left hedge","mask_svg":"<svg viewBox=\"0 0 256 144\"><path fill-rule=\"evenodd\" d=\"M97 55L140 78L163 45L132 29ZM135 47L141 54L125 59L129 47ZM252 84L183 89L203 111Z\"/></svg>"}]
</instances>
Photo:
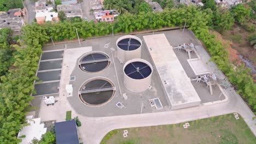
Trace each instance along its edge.
<instances>
[{"instance_id":1,"label":"bright white house with peach-orange wall, beside the rear-left hedge","mask_svg":"<svg viewBox=\"0 0 256 144\"><path fill-rule=\"evenodd\" d=\"M59 21L58 13L47 11L36 13L36 19L38 24L44 24L46 21Z\"/></svg>"}]
</instances>

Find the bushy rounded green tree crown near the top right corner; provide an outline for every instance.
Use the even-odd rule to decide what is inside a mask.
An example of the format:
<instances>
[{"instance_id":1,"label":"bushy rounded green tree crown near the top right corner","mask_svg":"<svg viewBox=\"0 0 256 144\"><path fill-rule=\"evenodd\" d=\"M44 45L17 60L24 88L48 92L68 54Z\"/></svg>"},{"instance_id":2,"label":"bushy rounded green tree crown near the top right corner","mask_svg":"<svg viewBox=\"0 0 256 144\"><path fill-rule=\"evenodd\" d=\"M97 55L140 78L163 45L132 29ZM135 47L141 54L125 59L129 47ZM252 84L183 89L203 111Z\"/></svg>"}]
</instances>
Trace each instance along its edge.
<instances>
[{"instance_id":1,"label":"bushy rounded green tree crown near the top right corner","mask_svg":"<svg viewBox=\"0 0 256 144\"><path fill-rule=\"evenodd\" d=\"M249 18L250 11L245 7L245 5L237 4L231 8L231 13L234 16L235 21L243 23Z\"/></svg>"}]
</instances>

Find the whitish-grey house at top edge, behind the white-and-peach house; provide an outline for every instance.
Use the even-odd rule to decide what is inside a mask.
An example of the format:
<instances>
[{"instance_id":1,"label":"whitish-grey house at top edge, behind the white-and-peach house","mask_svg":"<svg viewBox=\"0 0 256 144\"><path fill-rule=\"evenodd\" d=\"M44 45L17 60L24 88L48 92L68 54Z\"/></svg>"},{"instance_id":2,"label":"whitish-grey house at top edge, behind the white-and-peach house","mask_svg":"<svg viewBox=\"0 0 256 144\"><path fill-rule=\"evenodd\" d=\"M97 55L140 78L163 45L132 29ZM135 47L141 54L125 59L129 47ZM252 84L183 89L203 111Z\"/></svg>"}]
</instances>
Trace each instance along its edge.
<instances>
[{"instance_id":1,"label":"whitish-grey house at top edge, behind the white-and-peach house","mask_svg":"<svg viewBox=\"0 0 256 144\"><path fill-rule=\"evenodd\" d=\"M54 0L38 0L35 3L34 9L36 10L36 13L39 12L50 12L54 9Z\"/></svg>"}]
</instances>

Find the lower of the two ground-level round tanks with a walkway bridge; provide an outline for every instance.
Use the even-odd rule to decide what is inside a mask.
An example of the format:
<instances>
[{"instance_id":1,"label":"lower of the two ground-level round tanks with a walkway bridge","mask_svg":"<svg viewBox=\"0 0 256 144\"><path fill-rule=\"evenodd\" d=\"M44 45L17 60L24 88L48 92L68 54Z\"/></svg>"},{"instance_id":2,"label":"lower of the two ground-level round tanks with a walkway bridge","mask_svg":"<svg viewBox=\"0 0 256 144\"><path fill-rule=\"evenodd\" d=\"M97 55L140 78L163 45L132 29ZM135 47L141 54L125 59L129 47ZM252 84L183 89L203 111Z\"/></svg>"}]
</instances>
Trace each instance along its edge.
<instances>
[{"instance_id":1,"label":"lower of the two ground-level round tanks with a walkway bridge","mask_svg":"<svg viewBox=\"0 0 256 144\"><path fill-rule=\"evenodd\" d=\"M105 77L95 77L83 83L79 89L80 100L89 106L101 106L115 94L113 82Z\"/></svg>"}]
</instances>

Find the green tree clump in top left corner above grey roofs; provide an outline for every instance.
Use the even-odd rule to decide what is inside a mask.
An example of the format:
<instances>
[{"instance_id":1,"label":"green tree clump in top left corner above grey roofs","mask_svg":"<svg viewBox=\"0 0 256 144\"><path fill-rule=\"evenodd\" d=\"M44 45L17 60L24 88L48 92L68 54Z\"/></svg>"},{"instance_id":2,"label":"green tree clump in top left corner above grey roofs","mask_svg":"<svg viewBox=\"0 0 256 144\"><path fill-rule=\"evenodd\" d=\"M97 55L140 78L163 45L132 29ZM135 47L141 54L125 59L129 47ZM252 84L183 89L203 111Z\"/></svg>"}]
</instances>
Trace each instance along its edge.
<instances>
[{"instance_id":1,"label":"green tree clump in top left corner above grey roofs","mask_svg":"<svg viewBox=\"0 0 256 144\"><path fill-rule=\"evenodd\" d=\"M0 0L0 11L8 11L15 8L23 8L21 0Z\"/></svg>"}]
</instances>

